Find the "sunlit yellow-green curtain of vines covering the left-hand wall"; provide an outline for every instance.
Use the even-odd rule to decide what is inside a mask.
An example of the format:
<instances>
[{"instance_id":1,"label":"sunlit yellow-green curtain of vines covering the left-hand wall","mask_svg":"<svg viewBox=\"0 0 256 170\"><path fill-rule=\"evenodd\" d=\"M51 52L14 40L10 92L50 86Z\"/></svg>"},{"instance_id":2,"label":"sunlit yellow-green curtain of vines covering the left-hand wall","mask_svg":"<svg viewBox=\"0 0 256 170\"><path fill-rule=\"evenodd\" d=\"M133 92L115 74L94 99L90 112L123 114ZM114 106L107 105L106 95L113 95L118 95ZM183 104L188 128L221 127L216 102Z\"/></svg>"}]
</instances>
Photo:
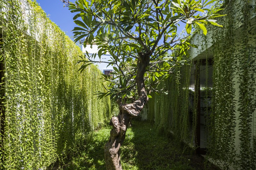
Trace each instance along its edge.
<instances>
[{"instance_id":1,"label":"sunlit yellow-green curtain of vines covering the left-hand wall","mask_svg":"<svg viewBox=\"0 0 256 170\"><path fill-rule=\"evenodd\" d=\"M100 70L31 0L0 0L0 169L45 169L111 116Z\"/></svg>"}]
</instances>

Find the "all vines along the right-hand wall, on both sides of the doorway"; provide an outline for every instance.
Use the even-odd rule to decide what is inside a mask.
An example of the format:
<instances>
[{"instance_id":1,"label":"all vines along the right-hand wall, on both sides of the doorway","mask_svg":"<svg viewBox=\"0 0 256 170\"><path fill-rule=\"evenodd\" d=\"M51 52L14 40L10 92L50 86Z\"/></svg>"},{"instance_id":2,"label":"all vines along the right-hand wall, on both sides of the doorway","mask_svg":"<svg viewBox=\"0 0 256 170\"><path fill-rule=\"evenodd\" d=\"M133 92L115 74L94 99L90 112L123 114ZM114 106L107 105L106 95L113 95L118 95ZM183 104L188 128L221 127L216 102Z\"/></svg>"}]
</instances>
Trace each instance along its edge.
<instances>
[{"instance_id":1,"label":"all vines along the right-hand wall, on both sides of the doorway","mask_svg":"<svg viewBox=\"0 0 256 170\"><path fill-rule=\"evenodd\" d=\"M255 0L224 1L220 6L224 8L222 13L227 15L216 18L223 28L207 26L206 36L197 32L192 37L199 47L197 54L206 61L213 60L213 65L209 62L204 65L204 84L207 87L210 80L212 85L201 88L200 104L204 105L203 101L211 103L204 108L207 154L223 169L256 169L255 4ZM197 59L188 64L194 67ZM168 95L156 95L149 100L148 120L165 133L171 132L193 143L198 126L197 106L193 104L197 94L188 90L194 70L187 67L176 70L162 85L169 89ZM213 68L212 76L208 67ZM211 98L211 101L203 98ZM191 100L194 101L192 105Z\"/></svg>"}]
</instances>

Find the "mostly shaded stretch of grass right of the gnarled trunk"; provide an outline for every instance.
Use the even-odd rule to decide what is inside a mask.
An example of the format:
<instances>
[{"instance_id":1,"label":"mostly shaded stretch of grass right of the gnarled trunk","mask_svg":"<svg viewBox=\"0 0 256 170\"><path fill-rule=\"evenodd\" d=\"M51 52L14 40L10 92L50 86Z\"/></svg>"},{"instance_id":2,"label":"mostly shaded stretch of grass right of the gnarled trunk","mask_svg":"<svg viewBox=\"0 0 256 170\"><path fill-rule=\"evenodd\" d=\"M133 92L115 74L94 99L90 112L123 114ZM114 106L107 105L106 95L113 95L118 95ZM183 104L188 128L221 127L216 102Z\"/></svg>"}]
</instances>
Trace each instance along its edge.
<instances>
[{"instance_id":1,"label":"mostly shaded stretch of grass right of the gnarled trunk","mask_svg":"<svg viewBox=\"0 0 256 170\"><path fill-rule=\"evenodd\" d=\"M121 160L124 170L219 169L205 164L204 158L195 155L193 148L173 136L166 137L145 121L134 121L127 130Z\"/></svg>"}]
</instances>

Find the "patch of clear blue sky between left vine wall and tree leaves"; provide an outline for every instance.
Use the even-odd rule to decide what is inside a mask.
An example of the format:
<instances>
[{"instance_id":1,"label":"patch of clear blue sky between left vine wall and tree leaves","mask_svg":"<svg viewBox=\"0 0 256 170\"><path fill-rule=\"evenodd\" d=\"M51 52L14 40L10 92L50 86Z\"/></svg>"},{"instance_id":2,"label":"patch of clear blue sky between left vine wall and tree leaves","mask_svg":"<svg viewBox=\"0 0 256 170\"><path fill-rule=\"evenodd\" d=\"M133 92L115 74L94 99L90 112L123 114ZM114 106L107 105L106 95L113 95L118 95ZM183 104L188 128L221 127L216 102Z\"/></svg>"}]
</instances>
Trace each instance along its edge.
<instances>
[{"instance_id":1,"label":"patch of clear blue sky between left vine wall and tree leaves","mask_svg":"<svg viewBox=\"0 0 256 170\"><path fill-rule=\"evenodd\" d=\"M60 0L34 0L45 11L46 15L64 31L69 37L73 36L71 30L76 26L73 21L74 13L68 10L68 7L63 7Z\"/></svg>"}]
</instances>

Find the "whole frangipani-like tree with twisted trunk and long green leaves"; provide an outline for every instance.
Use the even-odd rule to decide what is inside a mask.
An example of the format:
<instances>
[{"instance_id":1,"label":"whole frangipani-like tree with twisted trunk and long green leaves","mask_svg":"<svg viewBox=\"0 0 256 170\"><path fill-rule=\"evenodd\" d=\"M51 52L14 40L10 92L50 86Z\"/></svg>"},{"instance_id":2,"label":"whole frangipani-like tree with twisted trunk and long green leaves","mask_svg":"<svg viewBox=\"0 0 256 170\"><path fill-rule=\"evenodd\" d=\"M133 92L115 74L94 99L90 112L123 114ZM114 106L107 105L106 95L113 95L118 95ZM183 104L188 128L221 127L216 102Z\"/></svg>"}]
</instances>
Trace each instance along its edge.
<instances>
[{"instance_id":1,"label":"whole frangipani-like tree with twisted trunk and long green leaves","mask_svg":"<svg viewBox=\"0 0 256 170\"><path fill-rule=\"evenodd\" d=\"M207 9L214 1L195 0L63 0L71 12L77 12L74 22L75 41L99 46L98 56L111 55L109 65L115 65L113 76L105 76L107 92L119 105L113 116L110 138L105 145L107 169L122 169L119 148L124 142L128 122L151 98L151 92L161 92L158 85L177 66L184 64L184 56L193 46L186 38L197 26L206 34L204 25L220 26L212 18L219 17L217 9ZM179 37L179 23L186 24L187 36ZM88 53L79 63L83 71L96 63L96 54Z\"/></svg>"}]
</instances>

